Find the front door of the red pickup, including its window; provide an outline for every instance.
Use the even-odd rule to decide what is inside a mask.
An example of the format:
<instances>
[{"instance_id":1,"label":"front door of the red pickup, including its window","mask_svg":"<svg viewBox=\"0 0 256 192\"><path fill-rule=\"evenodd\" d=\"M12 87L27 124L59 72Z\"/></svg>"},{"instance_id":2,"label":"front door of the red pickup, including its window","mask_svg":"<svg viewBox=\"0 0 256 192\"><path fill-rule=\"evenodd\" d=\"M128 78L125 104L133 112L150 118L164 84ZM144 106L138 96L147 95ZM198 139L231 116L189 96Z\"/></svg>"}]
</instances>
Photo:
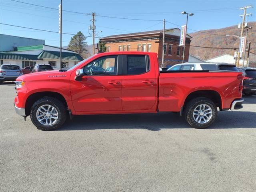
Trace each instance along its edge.
<instances>
[{"instance_id":1,"label":"front door of the red pickup, including its window","mask_svg":"<svg viewBox=\"0 0 256 192\"><path fill-rule=\"evenodd\" d=\"M111 68L111 70L106 70ZM118 56L103 56L84 66L81 81L71 76L70 91L76 112L122 110L122 62Z\"/></svg>"}]
</instances>

